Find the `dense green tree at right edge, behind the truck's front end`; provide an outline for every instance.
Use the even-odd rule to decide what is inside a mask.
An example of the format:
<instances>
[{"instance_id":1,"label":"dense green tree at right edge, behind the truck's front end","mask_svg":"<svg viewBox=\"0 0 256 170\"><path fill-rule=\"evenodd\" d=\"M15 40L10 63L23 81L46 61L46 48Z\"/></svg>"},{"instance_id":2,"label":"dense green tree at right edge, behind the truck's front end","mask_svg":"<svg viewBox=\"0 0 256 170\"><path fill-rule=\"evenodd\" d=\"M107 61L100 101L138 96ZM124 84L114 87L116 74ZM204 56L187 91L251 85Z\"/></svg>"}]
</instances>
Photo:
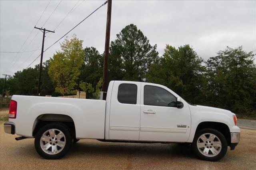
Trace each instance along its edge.
<instances>
[{"instance_id":1,"label":"dense green tree at right edge, behind the truck's front end","mask_svg":"<svg viewBox=\"0 0 256 170\"><path fill-rule=\"evenodd\" d=\"M256 114L256 66L254 54L242 46L227 47L207 60L207 101L238 114Z\"/></svg>"}]
</instances>

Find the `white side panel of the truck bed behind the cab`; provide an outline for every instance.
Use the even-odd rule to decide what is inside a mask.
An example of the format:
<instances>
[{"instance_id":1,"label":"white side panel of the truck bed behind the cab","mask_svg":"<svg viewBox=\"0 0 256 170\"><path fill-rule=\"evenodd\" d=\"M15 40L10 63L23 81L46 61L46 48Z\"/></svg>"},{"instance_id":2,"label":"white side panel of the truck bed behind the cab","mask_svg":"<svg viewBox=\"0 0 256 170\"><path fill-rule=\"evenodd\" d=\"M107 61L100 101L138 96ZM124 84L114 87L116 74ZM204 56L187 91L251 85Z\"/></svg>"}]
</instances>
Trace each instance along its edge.
<instances>
[{"instance_id":1,"label":"white side panel of the truck bed behind the cab","mask_svg":"<svg viewBox=\"0 0 256 170\"><path fill-rule=\"evenodd\" d=\"M44 114L70 116L76 127L76 138L104 139L105 100L57 98L40 96L12 96L17 105L16 134L33 137L38 119ZM33 128L32 128L33 127Z\"/></svg>"}]
</instances>

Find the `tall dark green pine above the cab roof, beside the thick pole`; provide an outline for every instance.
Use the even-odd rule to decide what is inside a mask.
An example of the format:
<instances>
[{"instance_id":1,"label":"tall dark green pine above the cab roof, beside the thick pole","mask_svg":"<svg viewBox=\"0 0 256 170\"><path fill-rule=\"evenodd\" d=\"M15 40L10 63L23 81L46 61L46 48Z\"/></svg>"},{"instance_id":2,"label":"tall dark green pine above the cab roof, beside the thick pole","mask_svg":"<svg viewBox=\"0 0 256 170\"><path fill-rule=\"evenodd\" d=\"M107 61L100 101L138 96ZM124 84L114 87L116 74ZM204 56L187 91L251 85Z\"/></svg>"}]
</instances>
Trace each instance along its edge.
<instances>
[{"instance_id":1,"label":"tall dark green pine above the cab roof, beside the thick pole","mask_svg":"<svg viewBox=\"0 0 256 170\"><path fill-rule=\"evenodd\" d=\"M110 44L110 80L143 81L148 67L158 59L156 45L134 24L116 35Z\"/></svg>"}]
</instances>

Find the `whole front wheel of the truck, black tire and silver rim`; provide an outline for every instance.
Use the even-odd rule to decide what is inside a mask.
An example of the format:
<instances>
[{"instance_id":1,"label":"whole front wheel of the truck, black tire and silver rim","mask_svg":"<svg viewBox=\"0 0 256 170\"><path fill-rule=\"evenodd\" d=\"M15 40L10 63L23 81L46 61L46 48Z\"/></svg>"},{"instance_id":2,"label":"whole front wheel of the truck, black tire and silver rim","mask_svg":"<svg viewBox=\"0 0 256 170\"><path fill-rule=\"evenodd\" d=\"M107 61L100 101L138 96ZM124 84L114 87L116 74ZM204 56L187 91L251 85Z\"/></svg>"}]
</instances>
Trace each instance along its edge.
<instances>
[{"instance_id":1,"label":"whole front wheel of the truck, black tire and silver rim","mask_svg":"<svg viewBox=\"0 0 256 170\"><path fill-rule=\"evenodd\" d=\"M228 144L221 132L207 128L196 133L192 148L200 159L217 161L226 154Z\"/></svg>"}]
</instances>

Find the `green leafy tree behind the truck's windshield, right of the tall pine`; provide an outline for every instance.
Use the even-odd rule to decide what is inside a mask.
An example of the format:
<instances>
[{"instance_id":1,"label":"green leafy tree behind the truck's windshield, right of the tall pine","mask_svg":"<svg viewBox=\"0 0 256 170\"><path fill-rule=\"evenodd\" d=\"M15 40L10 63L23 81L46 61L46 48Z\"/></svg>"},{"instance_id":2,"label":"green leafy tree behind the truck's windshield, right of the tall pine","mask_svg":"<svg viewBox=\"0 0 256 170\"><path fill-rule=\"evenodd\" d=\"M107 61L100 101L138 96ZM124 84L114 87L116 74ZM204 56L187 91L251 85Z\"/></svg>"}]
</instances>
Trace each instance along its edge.
<instances>
[{"instance_id":1,"label":"green leafy tree behind the truck's windshield, right of the tall pine","mask_svg":"<svg viewBox=\"0 0 256 170\"><path fill-rule=\"evenodd\" d=\"M167 86L188 102L201 104L206 84L202 62L189 45L178 49L166 45L163 57L150 66L146 78L148 82Z\"/></svg>"}]
</instances>

